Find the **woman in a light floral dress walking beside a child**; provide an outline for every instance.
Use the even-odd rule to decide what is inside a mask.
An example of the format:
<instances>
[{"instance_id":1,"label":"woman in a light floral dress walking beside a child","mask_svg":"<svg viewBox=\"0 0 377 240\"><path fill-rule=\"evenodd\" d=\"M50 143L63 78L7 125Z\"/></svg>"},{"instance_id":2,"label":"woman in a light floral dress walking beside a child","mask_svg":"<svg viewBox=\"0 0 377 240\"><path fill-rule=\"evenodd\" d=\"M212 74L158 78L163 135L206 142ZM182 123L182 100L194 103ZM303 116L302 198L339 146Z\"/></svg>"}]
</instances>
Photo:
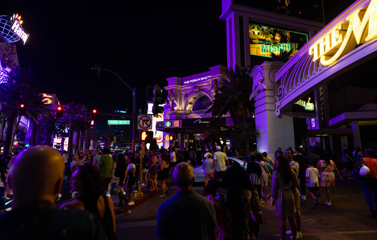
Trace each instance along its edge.
<instances>
[{"instance_id":1,"label":"woman in a light floral dress walking beside a child","mask_svg":"<svg viewBox=\"0 0 377 240\"><path fill-rule=\"evenodd\" d=\"M320 180L319 186L325 188L326 194L326 205L331 206L330 200L330 187L335 186L335 173L334 171L339 174L340 179L343 180L342 174L340 174L339 170L336 168L335 163L329 159L328 154L324 151L320 153L320 161L317 163L317 169L320 172Z\"/></svg>"}]
</instances>

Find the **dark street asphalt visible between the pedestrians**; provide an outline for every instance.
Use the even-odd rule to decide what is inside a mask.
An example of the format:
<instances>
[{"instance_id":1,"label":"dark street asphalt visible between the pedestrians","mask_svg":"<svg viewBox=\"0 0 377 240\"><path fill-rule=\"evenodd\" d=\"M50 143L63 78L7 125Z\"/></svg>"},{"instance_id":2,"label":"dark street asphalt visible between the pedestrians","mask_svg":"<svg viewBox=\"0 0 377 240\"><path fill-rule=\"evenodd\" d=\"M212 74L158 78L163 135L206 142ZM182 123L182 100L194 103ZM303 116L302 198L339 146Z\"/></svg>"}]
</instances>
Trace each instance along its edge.
<instances>
[{"instance_id":1,"label":"dark street asphalt visible between the pedestrians","mask_svg":"<svg viewBox=\"0 0 377 240\"><path fill-rule=\"evenodd\" d=\"M345 174L346 175L346 174ZM166 180L169 192L166 197L159 194L151 197L138 206L129 209L124 214L116 214L116 233L119 239L154 240L156 239L156 224L158 208L176 193L171 176ZM193 189L202 194L204 183L195 183ZM160 185L158 185L160 188ZM62 200L69 200L68 186L63 186ZM361 182L357 179L336 178L336 186L331 188L332 206L326 202L323 188L320 188L319 206L311 205L312 199L301 200L301 231L303 239L377 239L377 218L370 216ZM114 205L118 203L115 193L111 193ZM115 204L116 203L116 204ZM260 225L258 239L279 239L279 218L274 214L274 207L269 201L262 205L265 224ZM287 223L288 230L289 224ZM287 235L286 239L289 239Z\"/></svg>"}]
</instances>

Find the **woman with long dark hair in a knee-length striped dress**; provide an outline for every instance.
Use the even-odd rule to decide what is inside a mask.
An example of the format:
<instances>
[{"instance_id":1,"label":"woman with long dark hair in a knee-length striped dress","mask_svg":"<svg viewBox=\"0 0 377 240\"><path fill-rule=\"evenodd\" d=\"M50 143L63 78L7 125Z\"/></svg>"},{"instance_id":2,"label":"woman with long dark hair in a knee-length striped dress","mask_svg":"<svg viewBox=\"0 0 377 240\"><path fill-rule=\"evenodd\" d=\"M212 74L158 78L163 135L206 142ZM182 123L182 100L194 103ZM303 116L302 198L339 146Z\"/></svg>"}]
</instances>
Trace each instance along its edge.
<instances>
[{"instance_id":1,"label":"woman with long dark hair in a knee-length striped dress","mask_svg":"<svg viewBox=\"0 0 377 240\"><path fill-rule=\"evenodd\" d=\"M299 187L299 181L291 170L287 157L277 156L275 167L276 171L272 174L271 205L275 206L275 214L280 217L280 239L285 239L288 217L292 231L291 239L295 240L297 225L293 218L296 212L293 191Z\"/></svg>"}]
</instances>

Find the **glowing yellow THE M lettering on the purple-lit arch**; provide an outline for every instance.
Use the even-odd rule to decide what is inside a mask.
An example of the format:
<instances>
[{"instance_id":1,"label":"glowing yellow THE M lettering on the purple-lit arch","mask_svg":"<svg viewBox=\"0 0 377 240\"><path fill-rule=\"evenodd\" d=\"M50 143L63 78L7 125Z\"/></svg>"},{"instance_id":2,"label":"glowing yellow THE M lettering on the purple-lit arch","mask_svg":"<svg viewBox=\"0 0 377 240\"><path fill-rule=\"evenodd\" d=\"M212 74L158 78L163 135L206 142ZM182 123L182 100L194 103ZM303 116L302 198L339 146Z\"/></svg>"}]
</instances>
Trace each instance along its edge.
<instances>
[{"instance_id":1,"label":"glowing yellow THE M lettering on the purple-lit arch","mask_svg":"<svg viewBox=\"0 0 377 240\"><path fill-rule=\"evenodd\" d=\"M359 14L364 13L360 21ZM314 55L313 61L320 58L322 65L327 66L334 63L346 49L352 32L355 35L356 43L366 43L377 36L377 0L371 0L366 10L357 9L346 18L345 23L339 23L331 29L319 41L309 49L309 55ZM366 25L369 23L368 30ZM368 35L366 35L368 34ZM366 37L365 37L366 35Z\"/></svg>"}]
</instances>

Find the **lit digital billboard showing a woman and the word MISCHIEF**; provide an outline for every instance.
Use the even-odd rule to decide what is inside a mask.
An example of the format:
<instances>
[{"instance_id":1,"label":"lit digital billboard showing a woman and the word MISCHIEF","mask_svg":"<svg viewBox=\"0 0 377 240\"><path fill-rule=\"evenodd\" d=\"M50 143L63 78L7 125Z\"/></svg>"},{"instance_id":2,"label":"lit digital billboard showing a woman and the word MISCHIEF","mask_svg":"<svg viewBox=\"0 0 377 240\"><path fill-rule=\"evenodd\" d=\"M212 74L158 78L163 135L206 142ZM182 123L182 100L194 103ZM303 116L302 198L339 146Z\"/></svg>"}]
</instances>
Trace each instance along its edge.
<instances>
[{"instance_id":1,"label":"lit digital billboard showing a woman and the word MISCHIEF","mask_svg":"<svg viewBox=\"0 0 377 240\"><path fill-rule=\"evenodd\" d=\"M250 54L271 57L280 50L295 54L308 42L308 34L249 23ZM291 56L292 56L291 55Z\"/></svg>"}]
</instances>

